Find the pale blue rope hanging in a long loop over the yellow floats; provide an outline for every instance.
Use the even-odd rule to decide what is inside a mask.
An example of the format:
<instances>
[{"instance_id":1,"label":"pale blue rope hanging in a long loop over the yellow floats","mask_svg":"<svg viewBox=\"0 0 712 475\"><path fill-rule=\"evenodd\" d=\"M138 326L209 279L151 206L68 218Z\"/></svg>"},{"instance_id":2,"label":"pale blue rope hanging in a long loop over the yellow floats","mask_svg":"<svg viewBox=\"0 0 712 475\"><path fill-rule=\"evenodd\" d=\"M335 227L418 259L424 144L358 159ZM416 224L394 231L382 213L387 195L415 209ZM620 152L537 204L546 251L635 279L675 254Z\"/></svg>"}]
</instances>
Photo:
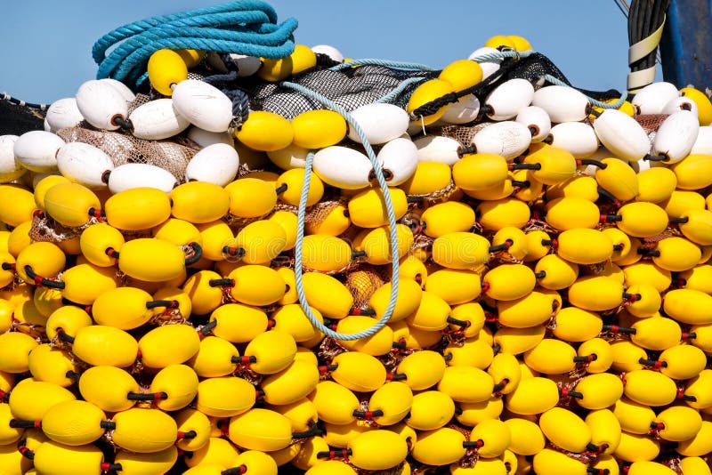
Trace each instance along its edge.
<instances>
[{"instance_id":1,"label":"pale blue rope hanging in a long loop over the yellow floats","mask_svg":"<svg viewBox=\"0 0 712 475\"><path fill-rule=\"evenodd\" d=\"M327 326L324 326L323 323L319 321L318 318L314 315L312 312L312 309L309 307L309 302L306 300L306 294L304 294L304 286L303 286L303 279L302 279L302 247L303 247L303 239L304 239L304 218L306 214L306 200L307 197L309 196L309 185L312 180L312 162L314 160L314 154L313 152L310 152L309 155L307 155L305 164L304 164L304 181L302 184L302 195L299 198L299 211L297 213L297 226L296 226L296 241L295 241L295 281L296 281L296 294L299 295L299 304L302 306L302 310L304 311L304 314L309 318L309 321L312 322L312 326L317 328L320 332L323 334L326 334L332 338L335 338L336 340L358 340L360 338L367 338L368 336L371 336L372 334L376 334L378 330L383 328L385 324L388 323L388 320L391 318L391 315L393 313L393 309L395 308L395 302L396 299L398 298L398 278L399 278L399 254L398 254L398 232L396 230L396 218L395 218L395 213L393 212L393 204L391 201L391 195L388 192L388 183L385 181L384 178L384 173L383 169L381 168L381 165L378 163L378 160L376 160L376 153L373 151L373 148L371 147L371 144L368 143L368 139L366 138L366 133L363 132L363 129L360 127L359 123L356 122L351 114L349 114L344 108L339 106L333 101L329 101L326 97L314 93L312 90L307 89L306 87L303 87L302 85L296 85L294 83L289 83L289 82L283 82L280 83L280 85L283 85L285 87L288 87L290 89L294 89L298 93L302 93L306 97L318 101L321 104L323 104L325 107L328 109L334 110L341 114L344 119L346 119L346 122L349 123L349 125L352 126L353 130L358 133L359 138L361 143L363 144L363 148L366 150L366 155L368 155L368 159L371 161L371 165L373 165L374 172L376 173L376 180L378 181L378 185L381 187L381 190L383 191L384 195L384 204L385 204L385 212L388 215L388 226L389 226L389 238L390 238L390 244L391 244L391 259L392 259L392 273L391 273L391 297L388 301L388 307L385 310L385 313L383 317L379 318L376 323L368 328L367 330L363 330L361 332L357 332L355 334L341 334L338 332L335 332L331 328L328 328Z\"/></svg>"}]
</instances>

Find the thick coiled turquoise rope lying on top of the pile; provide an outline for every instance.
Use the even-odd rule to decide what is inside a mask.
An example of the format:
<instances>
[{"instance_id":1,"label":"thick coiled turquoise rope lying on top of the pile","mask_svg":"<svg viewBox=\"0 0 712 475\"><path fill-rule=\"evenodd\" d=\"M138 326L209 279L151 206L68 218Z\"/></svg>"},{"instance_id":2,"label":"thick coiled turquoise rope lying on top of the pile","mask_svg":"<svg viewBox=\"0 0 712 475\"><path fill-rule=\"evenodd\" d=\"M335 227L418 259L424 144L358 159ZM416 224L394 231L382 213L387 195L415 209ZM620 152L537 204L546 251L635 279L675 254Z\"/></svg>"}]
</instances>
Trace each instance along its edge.
<instances>
[{"instance_id":1,"label":"thick coiled turquoise rope lying on top of the pile","mask_svg":"<svg viewBox=\"0 0 712 475\"><path fill-rule=\"evenodd\" d=\"M277 13L259 0L238 0L190 12L134 21L102 36L92 48L97 78L139 85L153 52L195 49L284 58L294 51L297 22L277 24ZM109 48L116 45L109 54Z\"/></svg>"}]
</instances>

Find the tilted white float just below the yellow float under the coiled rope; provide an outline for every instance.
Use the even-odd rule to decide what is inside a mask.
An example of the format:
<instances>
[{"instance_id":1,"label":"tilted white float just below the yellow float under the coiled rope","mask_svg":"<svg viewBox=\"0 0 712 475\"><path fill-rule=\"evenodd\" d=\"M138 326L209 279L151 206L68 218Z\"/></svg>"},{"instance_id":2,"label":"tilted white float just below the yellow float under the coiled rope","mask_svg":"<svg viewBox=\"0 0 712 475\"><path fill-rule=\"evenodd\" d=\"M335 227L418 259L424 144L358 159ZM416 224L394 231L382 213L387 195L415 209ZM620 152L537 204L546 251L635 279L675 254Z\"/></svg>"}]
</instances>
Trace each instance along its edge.
<instances>
[{"instance_id":1,"label":"tilted white float just below the yellow float under the coiled rope","mask_svg":"<svg viewBox=\"0 0 712 475\"><path fill-rule=\"evenodd\" d=\"M173 105L182 117L209 132L225 132L232 121L232 101L214 85L185 79L173 90Z\"/></svg>"}]
</instances>

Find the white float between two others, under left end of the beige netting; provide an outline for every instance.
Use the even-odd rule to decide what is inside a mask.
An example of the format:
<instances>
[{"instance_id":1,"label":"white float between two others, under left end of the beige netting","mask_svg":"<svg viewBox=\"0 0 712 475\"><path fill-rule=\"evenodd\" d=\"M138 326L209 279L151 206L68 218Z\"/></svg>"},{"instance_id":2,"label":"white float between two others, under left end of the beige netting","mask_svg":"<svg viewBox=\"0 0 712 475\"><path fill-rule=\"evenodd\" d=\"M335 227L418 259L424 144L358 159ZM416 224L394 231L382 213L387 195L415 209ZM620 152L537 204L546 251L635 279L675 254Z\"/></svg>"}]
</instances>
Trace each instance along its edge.
<instances>
[{"instance_id":1,"label":"white float between two others, under left end of the beige netting","mask_svg":"<svg viewBox=\"0 0 712 475\"><path fill-rule=\"evenodd\" d=\"M114 169L114 162L101 149L73 141L63 145L57 152L57 167L70 181L87 188L102 188L106 186L104 173Z\"/></svg>"}]
</instances>

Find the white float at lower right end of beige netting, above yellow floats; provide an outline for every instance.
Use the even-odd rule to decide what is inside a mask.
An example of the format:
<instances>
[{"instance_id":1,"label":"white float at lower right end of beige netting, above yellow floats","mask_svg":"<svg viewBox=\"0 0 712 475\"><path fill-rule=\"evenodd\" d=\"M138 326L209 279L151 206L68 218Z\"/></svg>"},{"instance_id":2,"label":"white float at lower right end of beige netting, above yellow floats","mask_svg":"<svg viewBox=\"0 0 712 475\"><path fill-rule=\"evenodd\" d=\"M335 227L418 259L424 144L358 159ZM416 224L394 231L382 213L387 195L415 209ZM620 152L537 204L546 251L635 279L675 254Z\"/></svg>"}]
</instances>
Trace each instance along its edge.
<instances>
[{"instance_id":1,"label":"white float at lower right end of beige netting, above yellow floats","mask_svg":"<svg viewBox=\"0 0 712 475\"><path fill-rule=\"evenodd\" d=\"M214 143L190 158L185 181L207 181L223 187L235 179L238 169L238 151L225 143Z\"/></svg>"}]
</instances>

